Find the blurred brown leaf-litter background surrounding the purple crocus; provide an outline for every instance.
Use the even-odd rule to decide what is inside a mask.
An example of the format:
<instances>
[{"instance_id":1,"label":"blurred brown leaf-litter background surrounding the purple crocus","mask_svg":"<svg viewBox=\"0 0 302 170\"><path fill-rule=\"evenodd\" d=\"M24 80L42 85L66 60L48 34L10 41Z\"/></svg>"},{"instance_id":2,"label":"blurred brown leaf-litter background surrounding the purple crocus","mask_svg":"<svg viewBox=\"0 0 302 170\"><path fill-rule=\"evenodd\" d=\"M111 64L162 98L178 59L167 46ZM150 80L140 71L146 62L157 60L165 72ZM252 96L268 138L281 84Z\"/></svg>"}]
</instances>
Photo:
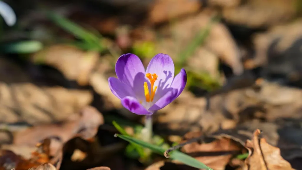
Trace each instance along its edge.
<instances>
[{"instance_id":1,"label":"blurred brown leaf-litter background surrounding the purple crocus","mask_svg":"<svg viewBox=\"0 0 302 170\"><path fill-rule=\"evenodd\" d=\"M239 170L248 164L246 140L261 129L271 152L302 169L301 0L4 2L16 22L1 7L1 170L45 162L58 170L196 169L162 155L143 159L114 138L112 121L131 136L144 123L108 87L125 53L145 67L169 54L175 75L187 71L183 93L154 115L156 145L200 136L180 150L215 170Z\"/></svg>"}]
</instances>

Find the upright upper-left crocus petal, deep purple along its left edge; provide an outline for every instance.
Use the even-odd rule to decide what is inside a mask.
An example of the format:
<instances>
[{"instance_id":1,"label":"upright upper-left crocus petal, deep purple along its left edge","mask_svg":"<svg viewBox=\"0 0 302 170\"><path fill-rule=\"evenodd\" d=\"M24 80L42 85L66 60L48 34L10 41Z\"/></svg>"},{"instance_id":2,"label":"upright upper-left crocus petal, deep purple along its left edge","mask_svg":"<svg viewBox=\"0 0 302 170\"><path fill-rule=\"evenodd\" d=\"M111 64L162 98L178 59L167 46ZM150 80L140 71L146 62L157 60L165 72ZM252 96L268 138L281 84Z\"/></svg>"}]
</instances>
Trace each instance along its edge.
<instances>
[{"instance_id":1,"label":"upright upper-left crocus petal, deep purple along its left edge","mask_svg":"<svg viewBox=\"0 0 302 170\"><path fill-rule=\"evenodd\" d=\"M132 88L134 87L134 80L137 74L140 73L136 83L141 83L143 87L144 79L141 77L145 75L145 68L140 58L136 55L130 53L121 55L115 64L115 73L122 83Z\"/></svg>"}]
</instances>

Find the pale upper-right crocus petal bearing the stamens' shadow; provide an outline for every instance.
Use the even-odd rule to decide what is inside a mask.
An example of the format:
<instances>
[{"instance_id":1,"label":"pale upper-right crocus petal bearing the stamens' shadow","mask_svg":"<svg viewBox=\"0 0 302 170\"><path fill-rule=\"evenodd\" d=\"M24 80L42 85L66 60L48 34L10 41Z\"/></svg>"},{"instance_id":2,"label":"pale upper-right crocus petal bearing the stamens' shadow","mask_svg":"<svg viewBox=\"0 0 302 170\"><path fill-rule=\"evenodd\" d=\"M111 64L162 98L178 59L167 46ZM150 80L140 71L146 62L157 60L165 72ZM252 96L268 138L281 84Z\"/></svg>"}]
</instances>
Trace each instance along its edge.
<instances>
[{"instance_id":1,"label":"pale upper-right crocus petal bearing the stamens' shadow","mask_svg":"<svg viewBox=\"0 0 302 170\"><path fill-rule=\"evenodd\" d=\"M154 83L157 86L156 93L162 94L162 90L171 86L174 77L174 63L167 54L157 54L148 64L146 73L157 74L158 78Z\"/></svg>"}]
</instances>

